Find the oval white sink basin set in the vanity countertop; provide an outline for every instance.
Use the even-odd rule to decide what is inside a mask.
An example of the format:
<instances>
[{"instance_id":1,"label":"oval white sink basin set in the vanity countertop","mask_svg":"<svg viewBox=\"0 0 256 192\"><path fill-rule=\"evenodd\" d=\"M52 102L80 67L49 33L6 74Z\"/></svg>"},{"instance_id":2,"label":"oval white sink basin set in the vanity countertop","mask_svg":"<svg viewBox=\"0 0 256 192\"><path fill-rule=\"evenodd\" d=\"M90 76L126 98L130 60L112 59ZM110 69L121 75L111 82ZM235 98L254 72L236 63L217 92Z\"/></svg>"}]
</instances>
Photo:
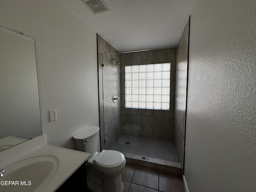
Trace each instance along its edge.
<instances>
[{"instance_id":1,"label":"oval white sink basin set in the vanity countertop","mask_svg":"<svg viewBox=\"0 0 256 192\"><path fill-rule=\"evenodd\" d=\"M32 192L42 191L58 169L59 161L55 156L42 155L27 158L11 164L4 169L4 176L0 178L0 191ZM11 181L8 185L4 181Z\"/></svg>"}]
</instances>

